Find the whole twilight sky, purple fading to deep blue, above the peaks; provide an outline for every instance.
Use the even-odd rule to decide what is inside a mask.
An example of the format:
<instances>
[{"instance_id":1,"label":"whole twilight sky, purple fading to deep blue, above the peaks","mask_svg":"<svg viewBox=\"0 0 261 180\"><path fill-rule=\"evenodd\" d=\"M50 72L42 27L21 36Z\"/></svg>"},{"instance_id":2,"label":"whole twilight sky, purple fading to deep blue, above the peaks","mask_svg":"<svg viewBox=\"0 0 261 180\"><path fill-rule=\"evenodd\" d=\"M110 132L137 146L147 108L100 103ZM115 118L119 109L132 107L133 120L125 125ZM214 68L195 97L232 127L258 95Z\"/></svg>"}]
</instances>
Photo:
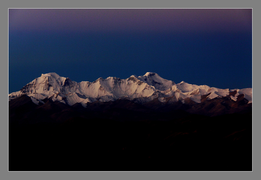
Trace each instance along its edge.
<instances>
[{"instance_id":1,"label":"whole twilight sky, purple fading to deep blue, above the peaks","mask_svg":"<svg viewBox=\"0 0 261 180\"><path fill-rule=\"evenodd\" d=\"M9 9L9 93L50 72L251 88L252 9Z\"/></svg>"}]
</instances>

